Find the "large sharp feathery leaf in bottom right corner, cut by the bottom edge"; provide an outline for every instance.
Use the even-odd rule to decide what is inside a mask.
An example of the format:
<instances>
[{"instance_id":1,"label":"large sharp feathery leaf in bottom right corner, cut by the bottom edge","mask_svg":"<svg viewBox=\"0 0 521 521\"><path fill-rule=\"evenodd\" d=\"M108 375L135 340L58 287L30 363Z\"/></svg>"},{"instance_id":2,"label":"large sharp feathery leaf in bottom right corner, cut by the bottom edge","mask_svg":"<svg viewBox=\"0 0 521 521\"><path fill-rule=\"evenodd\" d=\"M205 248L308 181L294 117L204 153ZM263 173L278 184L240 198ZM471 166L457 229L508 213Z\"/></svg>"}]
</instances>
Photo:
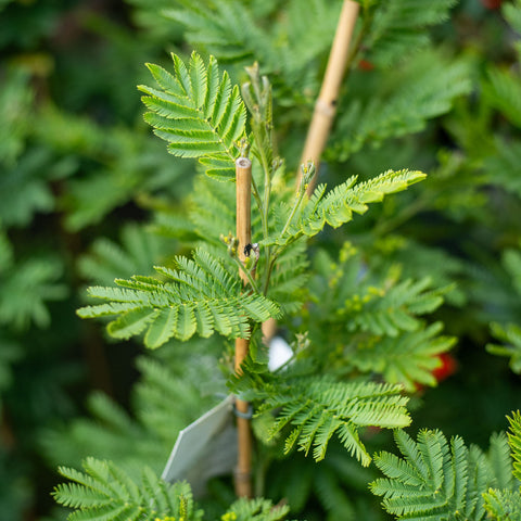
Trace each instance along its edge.
<instances>
[{"instance_id":1,"label":"large sharp feathery leaf in bottom right corner, cut by the bottom edge","mask_svg":"<svg viewBox=\"0 0 521 521\"><path fill-rule=\"evenodd\" d=\"M386 478L370 484L389 513L416 520L485 518L481 494L511 468L505 436L491 440L488 456L459 436L447 442L440 431L422 430L417 442L405 431L394 437L403 457L378 454L374 462Z\"/></svg>"}]
</instances>

